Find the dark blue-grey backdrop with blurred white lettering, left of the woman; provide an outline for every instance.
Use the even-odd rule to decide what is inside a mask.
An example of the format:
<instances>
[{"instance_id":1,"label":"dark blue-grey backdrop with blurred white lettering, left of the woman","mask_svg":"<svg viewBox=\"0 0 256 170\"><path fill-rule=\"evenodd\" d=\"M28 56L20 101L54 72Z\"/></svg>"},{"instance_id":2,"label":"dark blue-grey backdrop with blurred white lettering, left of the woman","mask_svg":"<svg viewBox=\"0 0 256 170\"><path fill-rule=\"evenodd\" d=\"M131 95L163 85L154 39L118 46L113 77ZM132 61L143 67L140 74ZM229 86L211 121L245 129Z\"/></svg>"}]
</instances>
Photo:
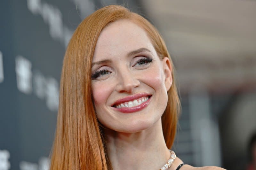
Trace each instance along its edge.
<instances>
[{"instance_id":1,"label":"dark blue-grey backdrop with blurred white lettering, left of the woman","mask_svg":"<svg viewBox=\"0 0 256 170\"><path fill-rule=\"evenodd\" d=\"M62 60L70 36L102 6L139 1L0 1L0 169L48 169Z\"/></svg>"}]
</instances>

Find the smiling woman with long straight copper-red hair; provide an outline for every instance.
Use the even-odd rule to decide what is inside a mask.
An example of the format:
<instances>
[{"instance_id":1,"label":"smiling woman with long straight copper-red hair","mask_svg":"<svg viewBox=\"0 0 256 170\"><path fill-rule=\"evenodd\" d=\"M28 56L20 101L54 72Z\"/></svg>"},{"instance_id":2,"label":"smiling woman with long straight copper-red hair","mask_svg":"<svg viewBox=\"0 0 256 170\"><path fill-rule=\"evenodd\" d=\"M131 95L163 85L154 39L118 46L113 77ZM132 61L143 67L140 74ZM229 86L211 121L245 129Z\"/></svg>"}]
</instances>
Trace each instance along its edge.
<instances>
[{"instance_id":1,"label":"smiling woman with long straight copper-red hair","mask_svg":"<svg viewBox=\"0 0 256 170\"><path fill-rule=\"evenodd\" d=\"M67 47L51 169L193 169L168 149L179 108L156 28L122 6L101 8Z\"/></svg>"}]
</instances>

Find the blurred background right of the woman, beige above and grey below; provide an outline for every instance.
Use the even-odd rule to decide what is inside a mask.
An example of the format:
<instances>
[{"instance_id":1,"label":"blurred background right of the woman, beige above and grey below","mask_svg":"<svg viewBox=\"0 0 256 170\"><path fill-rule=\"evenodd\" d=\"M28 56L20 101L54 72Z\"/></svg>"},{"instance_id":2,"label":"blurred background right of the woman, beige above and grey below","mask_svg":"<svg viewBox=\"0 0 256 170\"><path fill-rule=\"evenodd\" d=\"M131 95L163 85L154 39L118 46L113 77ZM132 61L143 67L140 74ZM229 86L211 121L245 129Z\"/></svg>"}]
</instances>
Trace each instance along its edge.
<instances>
[{"instance_id":1,"label":"blurred background right of the woman, beige above and grey below","mask_svg":"<svg viewBox=\"0 0 256 170\"><path fill-rule=\"evenodd\" d=\"M177 70L178 156L194 166L245 169L247 140L256 130L256 1L142 3Z\"/></svg>"}]
</instances>

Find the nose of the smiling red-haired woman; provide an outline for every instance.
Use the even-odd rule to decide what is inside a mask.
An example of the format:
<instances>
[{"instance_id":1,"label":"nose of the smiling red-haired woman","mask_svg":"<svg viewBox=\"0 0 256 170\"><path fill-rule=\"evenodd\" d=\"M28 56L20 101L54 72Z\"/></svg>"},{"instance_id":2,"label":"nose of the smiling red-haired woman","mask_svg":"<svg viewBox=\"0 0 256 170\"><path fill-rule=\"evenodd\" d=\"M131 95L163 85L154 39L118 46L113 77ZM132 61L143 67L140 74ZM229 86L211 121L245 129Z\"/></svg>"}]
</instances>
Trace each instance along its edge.
<instances>
[{"instance_id":1,"label":"nose of the smiling red-haired woman","mask_svg":"<svg viewBox=\"0 0 256 170\"><path fill-rule=\"evenodd\" d=\"M140 81L130 70L122 69L117 76L116 91L131 93L135 87L140 85Z\"/></svg>"}]
</instances>

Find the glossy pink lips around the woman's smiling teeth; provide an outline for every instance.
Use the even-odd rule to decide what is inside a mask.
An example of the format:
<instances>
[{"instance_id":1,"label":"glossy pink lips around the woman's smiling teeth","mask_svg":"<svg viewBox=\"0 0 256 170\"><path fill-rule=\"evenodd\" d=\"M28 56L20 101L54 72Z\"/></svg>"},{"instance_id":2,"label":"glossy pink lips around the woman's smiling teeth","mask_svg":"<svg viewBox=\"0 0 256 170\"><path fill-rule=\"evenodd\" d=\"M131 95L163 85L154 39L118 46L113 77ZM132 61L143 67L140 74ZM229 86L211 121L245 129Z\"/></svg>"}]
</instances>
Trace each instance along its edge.
<instances>
[{"instance_id":1,"label":"glossy pink lips around the woman's smiling teeth","mask_svg":"<svg viewBox=\"0 0 256 170\"><path fill-rule=\"evenodd\" d=\"M112 106L114 106L115 104L120 104L120 103L124 103L124 102L128 102L128 101L132 101L135 99L138 99L140 97L146 97L146 96L151 96L150 94L147 93L140 93L140 94L135 94L129 97L124 97L122 99L117 100ZM132 112L137 112L142 110L143 108L147 107L149 102L150 102L151 97L144 103L135 106L135 107L123 107L123 108L116 108L116 107L112 107L114 110L117 110L119 112L123 112L123 113L132 113Z\"/></svg>"}]
</instances>

